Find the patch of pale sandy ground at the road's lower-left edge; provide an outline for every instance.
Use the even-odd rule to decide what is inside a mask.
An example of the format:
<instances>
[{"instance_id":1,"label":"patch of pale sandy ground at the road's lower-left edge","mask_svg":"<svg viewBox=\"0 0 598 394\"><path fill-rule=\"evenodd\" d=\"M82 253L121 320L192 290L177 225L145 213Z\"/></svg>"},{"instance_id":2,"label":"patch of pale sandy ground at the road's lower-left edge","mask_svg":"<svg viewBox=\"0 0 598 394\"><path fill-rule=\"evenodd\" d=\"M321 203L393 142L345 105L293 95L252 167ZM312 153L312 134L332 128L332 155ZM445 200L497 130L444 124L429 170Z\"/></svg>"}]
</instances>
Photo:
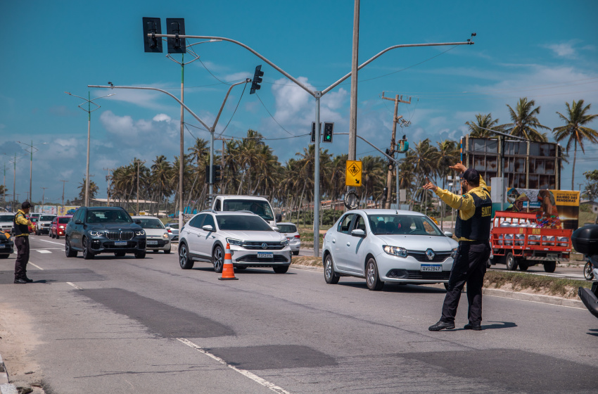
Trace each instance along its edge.
<instances>
[{"instance_id":1,"label":"patch of pale sandy ground at the road's lower-left edge","mask_svg":"<svg viewBox=\"0 0 598 394\"><path fill-rule=\"evenodd\" d=\"M0 337L8 380L19 393L45 394L41 383L44 375L33 357L39 342L31 319L15 305L0 303Z\"/></svg>"}]
</instances>

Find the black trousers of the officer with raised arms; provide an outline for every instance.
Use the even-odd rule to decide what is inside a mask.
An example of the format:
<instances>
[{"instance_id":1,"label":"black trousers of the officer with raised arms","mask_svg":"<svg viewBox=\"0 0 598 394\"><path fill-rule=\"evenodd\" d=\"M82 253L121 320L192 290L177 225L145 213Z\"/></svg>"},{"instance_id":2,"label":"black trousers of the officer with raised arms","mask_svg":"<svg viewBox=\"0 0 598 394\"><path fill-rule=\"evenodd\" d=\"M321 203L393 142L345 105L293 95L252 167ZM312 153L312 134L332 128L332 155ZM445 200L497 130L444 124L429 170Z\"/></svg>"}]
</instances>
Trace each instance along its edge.
<instances>
[{"instance_id":1,"label":"black trousers of the officer with raised arms","mask_svg":"<svg viewBox=\"0 0 598 394\"><path fill-rule=\"evenodd\" d=\"M443 303L443 322L454 322L463 286L467 284L467 317L471 324L482 322L482 286L486 262L490 258L490 244L459 242L457 256L450 271L447 295Z\"/></svg>"}]
</instances>

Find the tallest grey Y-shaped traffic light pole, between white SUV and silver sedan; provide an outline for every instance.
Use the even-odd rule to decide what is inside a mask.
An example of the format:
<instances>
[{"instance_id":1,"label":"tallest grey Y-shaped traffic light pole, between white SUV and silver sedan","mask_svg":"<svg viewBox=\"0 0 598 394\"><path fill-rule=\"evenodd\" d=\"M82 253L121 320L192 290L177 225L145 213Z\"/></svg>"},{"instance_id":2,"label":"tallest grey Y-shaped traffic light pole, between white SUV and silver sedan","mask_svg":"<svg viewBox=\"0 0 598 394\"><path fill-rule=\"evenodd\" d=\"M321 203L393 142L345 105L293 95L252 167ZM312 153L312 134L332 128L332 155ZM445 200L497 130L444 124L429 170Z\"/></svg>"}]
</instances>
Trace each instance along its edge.
<instances>
[{"instance_id":1,"label":"tallest grey Y-shaped traffic light pole, between white SUV and silver sedan","mask_svg":"<svg viewBox=\"0 0 598 394\"><path fill-rule=\"evenodd\" d=\"M474 33L475 34L475 33ZM474 35L472 34L472 36ZM327 87L326 89L324 89L323 91L312 91L310 88L308 88L307 86L305 86L305 84L299 82L297 79L295 79L293 76L291 76L290 74L288 74L288 72L282 70L281 68L279 68L279 66L275 65L274 63L272 63L271 61L269 61L267 58L265 58L264 56L262 56L260 53L257 53L257 51L255 51L254 49L251 49L249 46L247 46L246 44L243 44L242 42L238 42L234 39L229 39L226 37L213 37L213 36L191 36L191 35L175 35L175 34L153 34L153 33L148 33L147 37L155 37L155 38L180 38L180 39L214 39L214 40L220 40L220 41L227 41L227 42L231 42L233 44L236 44L238 46L242 46L243 48L247 49L248 51L250 51L251 53L253 53L255 56L257 56L258 58L262 59L262 61L265 61L266 63L268 63L270 66L272 66L272 68L274 68L274 70L280 72L282 75L284 75L285 77L287 77L289 80L295 82L295 84L297 84L298 87L300 87L301 89L307 91L307 93L309 93L311 96L313 96L316 99L316 125L319 125L319 113L320 113L320 98L322 98L322 96L324 96L324 94L328 93L329 91L331 91L331 89L334 89L338 84L341 84L341 82L343 82L344 80L346 80L348 77L351 76L353 70L351 72L349 72L347 75L345 75L344 77L342 77L340 80L334 82L333 84L331 84L329 87ZM375 56L372 56L371 58L369 58L367 61L365 61L364 63L362 63L362 65L360 65L357 70L361 70L362 68L364 68L366 65L368 65L369 63L371 63L372 61L376 60L376 58L382 56L384 53L391 51L393 49L398 49L398 48L412 48L414 46L447 46L447 45L452 45L452 46L457 46L457 45L473 45L473 41L471 41L471 39L468 39L466 42L441 42L441 43L430 43L430 44L400 44L400 45L393 45L393 46L389 46L387 49L384 49L383 51L377 53ZM150 89L150 88L146 88L146 89ZM319 127L316 127L316 141L315 141L315 148L316 148L316 153L315 153L315 158L314 158L314 256L315 257L319 257L319 208L320 208L320 195L319 195L319 139L320 139L320 131L319 131ZM386 155L386 153L383 153ZM210 167L211 168L211 167Z\"/></svg>"}]
</instances>

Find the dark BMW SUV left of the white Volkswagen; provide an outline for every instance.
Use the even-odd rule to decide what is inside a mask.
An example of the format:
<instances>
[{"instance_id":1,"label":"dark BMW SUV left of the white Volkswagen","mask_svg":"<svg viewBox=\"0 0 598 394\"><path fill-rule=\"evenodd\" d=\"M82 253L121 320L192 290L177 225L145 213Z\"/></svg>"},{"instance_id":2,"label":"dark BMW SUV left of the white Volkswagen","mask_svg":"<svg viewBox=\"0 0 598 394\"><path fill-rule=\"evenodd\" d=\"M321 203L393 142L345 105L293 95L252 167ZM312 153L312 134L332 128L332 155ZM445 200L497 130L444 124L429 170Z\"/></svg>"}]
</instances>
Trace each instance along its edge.
<instances>
[{"instance_id":1,"label":"dark BMW SUV left of the white Volkswagen","mask_svg":"<svg viewBox=\"0 0 598 394\"><path fill-rule=\"evenodd\" d=\"M146 232L138 222L120 207L81 207L66 227L66 257L75 258L81 251L85 260L98 253L117 257L134 253L136 258L145 258Z\"/></svg>"}]
</instances>

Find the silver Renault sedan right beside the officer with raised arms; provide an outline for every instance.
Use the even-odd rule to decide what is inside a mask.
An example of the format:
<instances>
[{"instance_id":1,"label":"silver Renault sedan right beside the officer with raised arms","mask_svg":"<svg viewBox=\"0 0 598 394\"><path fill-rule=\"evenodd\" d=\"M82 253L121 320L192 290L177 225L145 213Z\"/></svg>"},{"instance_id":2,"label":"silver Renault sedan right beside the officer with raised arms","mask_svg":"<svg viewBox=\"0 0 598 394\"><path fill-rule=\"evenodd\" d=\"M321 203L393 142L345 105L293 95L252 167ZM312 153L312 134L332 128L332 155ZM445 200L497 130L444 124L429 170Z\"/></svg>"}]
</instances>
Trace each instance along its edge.
<instances>
[{"instance_id":1,"label":"silver Renault sedan right beside the officer with raised arms","mask_svg":"<svg viewBox=\"0 0 598 394\"><path fill-rule=\"evenodd\" d=\"M350 210L324 236L324 279L366 279L370 290L384 282L447 284L459 244L426 215L405 210Z\"/></svg>"}]
</instances>

